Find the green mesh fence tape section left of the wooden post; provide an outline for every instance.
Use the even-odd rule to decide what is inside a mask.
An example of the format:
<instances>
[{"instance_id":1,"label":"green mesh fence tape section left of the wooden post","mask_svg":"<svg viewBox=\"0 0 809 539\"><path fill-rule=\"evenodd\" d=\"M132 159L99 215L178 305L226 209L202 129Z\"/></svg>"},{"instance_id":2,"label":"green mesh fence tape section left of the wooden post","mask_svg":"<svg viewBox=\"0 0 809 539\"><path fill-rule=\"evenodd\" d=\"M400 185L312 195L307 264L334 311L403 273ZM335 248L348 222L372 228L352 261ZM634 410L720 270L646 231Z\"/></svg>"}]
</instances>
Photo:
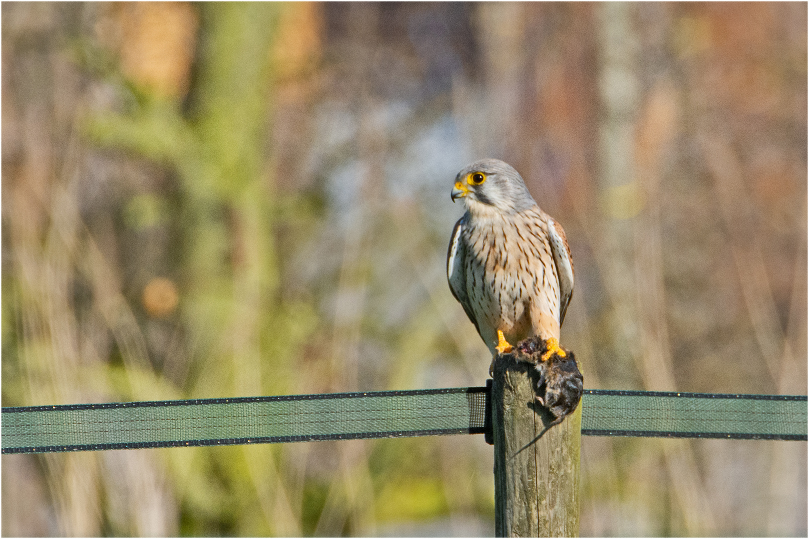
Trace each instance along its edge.
<instances>
[{"instance_id":1,"label":"green mesh fence tape section left of the wooden post","mask_svg":"<svg viewBox=\"0 0 809 539\"><path fill-rule=\"evenodd\" d=\"M2 453L484 432L485 387L2 409Z\"/></svg>"}]
</instances>

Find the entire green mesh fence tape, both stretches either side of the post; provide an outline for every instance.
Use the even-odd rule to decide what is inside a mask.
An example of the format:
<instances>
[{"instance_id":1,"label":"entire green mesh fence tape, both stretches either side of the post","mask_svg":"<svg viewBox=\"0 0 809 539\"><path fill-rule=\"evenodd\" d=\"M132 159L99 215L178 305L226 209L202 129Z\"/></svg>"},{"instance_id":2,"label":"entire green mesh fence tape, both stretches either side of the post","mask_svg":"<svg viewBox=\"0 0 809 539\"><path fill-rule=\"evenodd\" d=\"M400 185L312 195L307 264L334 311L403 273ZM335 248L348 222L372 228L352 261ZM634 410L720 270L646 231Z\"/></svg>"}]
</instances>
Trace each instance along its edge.
<instances>
[{"instance_id":1,"label":"entire green mesh fence tape, both stretches either side of the post","mask_svg":"<svg viewBox=\"0 0 809 539\"><path fill-rule=\"evenodd\" d=\"M2 409L2 453L477 434L488 389ZM807 440L807 398L586 390L584 436Z\"/></svg>"}]
</instances>

